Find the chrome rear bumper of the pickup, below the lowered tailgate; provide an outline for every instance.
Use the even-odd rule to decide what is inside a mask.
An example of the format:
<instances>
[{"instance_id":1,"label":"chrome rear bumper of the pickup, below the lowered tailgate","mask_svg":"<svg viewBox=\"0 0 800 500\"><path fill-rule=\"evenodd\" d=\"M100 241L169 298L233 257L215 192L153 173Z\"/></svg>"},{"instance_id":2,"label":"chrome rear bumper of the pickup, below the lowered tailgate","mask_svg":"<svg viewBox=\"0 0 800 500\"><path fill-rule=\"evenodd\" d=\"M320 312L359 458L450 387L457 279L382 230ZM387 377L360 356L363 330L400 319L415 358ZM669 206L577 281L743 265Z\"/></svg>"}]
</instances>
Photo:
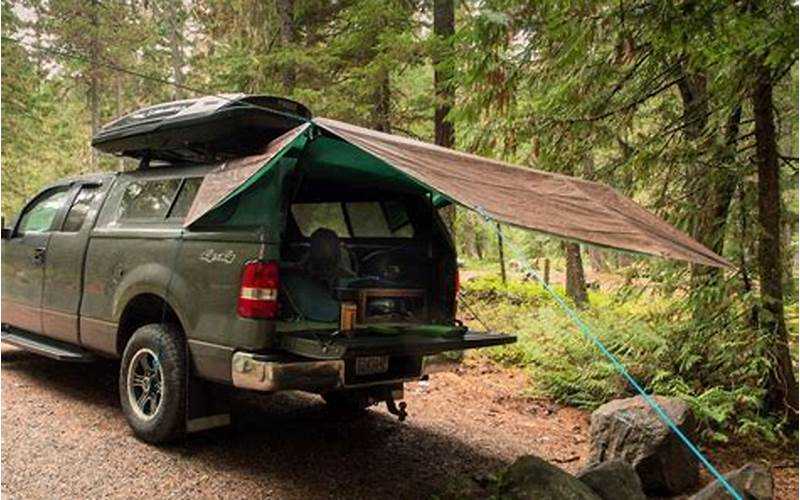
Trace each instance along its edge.
<instances>
[{"instance_id":1,"label":"chrome rear bumper of the pickup, below the lowered tailgate","mask_svg":"<svg viewBox=\"0 0 800 500\"><path fill-rule=\"evenodd\" d=\"M314 361L272 361L249 352L237 352L231 363L234 387L254 391L328 392L337 389L396 384L418 380L420 369L374 380L353 380L347 376L349 363L343 359Z\"/></svg>"}]
</instances>

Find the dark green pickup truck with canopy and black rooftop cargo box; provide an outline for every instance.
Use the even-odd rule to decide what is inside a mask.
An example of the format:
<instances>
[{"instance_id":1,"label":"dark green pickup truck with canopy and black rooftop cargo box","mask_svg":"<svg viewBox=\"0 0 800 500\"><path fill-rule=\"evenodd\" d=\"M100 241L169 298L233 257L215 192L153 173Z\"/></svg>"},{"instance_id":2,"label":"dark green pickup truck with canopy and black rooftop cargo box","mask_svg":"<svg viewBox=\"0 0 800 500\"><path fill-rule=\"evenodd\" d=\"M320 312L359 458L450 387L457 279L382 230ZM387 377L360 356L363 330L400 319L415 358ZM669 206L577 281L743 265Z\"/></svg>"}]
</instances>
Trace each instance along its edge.
<instances>
[{"instance_id":1,"label":"dark green pickup truck with canopy and black rooftop cargo box","mask_svg":"<svg viewBox=\"0 0 800 500\"><path fill-rule=\"evenodd\" d=\"M3 229L3 341L121 358L122 407L149 442L226 424L224 386L343 409L385 401L402 417L394 401L425 356L513 342L456 320L456 255L433 193L376 174L301 112L262 103L243 117L230 103L244 101L226 99L110 124L95 146L139 169L56 182ZM240 115L220 122L228 108ZM170 129L176 109L190 119ZM242 159L254 134L295 128Z\"/></svg>"}]
</instances>

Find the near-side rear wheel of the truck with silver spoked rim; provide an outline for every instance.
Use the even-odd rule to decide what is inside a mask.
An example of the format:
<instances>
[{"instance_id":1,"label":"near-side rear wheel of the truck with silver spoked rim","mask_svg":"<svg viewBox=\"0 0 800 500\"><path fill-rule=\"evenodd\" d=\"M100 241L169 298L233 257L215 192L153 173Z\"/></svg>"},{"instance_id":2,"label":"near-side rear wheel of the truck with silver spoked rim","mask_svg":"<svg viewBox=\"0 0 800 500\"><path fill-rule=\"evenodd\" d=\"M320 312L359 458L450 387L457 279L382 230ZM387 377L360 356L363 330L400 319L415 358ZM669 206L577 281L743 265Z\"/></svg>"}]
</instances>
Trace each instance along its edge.
<instances>
[{"instance_id":1,"label":"near-side rear wheel of the truck with silver spoked rim","mask_svg":"<svg viewBox=\"0 0 800 500\"><path fill-rule=\"evenodd\" d=\"M163 443L186 426L186 347L174 325L136 330L125 347L119 371L119 399L128 425L139 439Z\"/></svg>"}]
</instances>

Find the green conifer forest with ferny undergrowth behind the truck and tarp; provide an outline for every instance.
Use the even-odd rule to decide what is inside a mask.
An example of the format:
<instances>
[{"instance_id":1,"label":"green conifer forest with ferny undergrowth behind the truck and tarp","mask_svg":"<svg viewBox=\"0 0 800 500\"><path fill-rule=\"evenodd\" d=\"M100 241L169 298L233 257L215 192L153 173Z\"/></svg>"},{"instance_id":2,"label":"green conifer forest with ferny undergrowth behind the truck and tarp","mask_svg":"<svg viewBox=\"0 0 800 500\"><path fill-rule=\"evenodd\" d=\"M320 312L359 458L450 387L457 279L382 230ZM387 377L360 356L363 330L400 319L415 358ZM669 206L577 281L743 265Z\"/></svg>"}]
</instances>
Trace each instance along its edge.
<instances>
[{"instance_id":1,"label":"green conifer forest with ferny undergrowth behind the truck and tarp","mask_svg":"<svg viewBox=\"0 0 800 500\"><path fill-rule=\"evenodd\" d=\"M567 297L703 439L786 442L798 419L798 12L788 0L17 0L2 3L2 213L139 107L224 92L598 180L723 255L717 270L446 209L461 312L530 391L631 394L532 280Z\"/></svg>"}]
</instances>

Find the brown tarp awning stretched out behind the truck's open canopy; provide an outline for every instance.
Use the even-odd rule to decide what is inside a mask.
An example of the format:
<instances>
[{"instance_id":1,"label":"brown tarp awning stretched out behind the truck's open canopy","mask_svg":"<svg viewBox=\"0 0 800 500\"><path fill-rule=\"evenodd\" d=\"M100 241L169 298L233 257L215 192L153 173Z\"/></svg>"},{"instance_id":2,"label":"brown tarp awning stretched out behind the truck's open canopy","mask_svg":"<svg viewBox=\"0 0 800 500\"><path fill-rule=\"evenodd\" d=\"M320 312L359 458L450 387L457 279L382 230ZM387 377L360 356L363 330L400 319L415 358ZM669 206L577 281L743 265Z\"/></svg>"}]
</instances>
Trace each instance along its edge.
<instances>
[{"instance_id":1,"label":"brown tarp awning stretched out behind the truck's open canopy","mask_svg":"<svg viewBox=\"0 0 800 500\"><path fill-rule=\"evenodd\" d=\"M460 205L500 222L595 245L732 267L603 184L515 167L328 118L316 118L314 123Z\"/></svg>"}]
</instances>

